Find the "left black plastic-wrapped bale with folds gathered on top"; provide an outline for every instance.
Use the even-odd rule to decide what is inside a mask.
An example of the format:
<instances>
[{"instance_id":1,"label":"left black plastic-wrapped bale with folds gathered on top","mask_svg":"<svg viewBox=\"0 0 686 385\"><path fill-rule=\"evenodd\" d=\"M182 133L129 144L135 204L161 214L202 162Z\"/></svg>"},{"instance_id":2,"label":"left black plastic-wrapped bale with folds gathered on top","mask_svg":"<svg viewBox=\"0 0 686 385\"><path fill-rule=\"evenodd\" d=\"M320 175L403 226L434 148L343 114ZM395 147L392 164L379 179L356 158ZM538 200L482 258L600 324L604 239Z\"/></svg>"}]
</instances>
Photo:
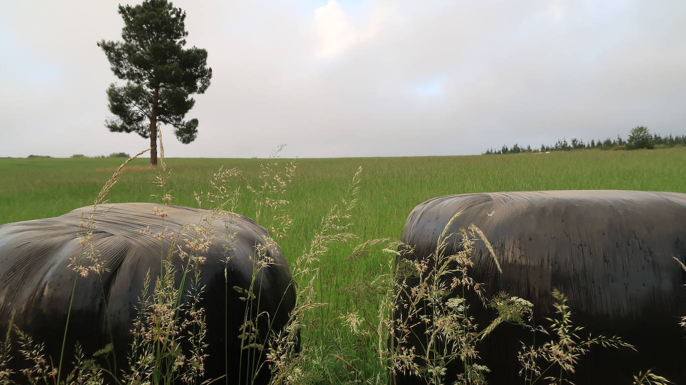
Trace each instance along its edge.
<instances>
[{"instance_id":1,"label":"left black plastic-wrapped bale with folds gathered on top","mask_svg":"<svg viewBox=\"0 0 686 385\"><path fill-rule=\"evenodd\" d=\"M161 218L151 213L153 207L155 205L148 203L118 203L98 208L93 240L108 269L100 277L93 272L86 278L76 277L68 267L69 258L81 252L76 240L83 230L78 227L80 219L93 213L93 207L75 209L57 218L0 226L0 335L4 338L14 314L14 323L37 342L45 342L47 353L57 364L71 288L76 280L64 359L67 373L71 371L77 340L87 353L113 342L117 370L128 367L130 329L137 316L143 279L148 270L153 279L159 275L161 255L166 256L171 246L169 240L161 244L154 237L137 231L146 226L150 226L153 233L162 231ZM167 214L164 218L167 234L178 234L188 223L209 224L205 220L207 211L200 209L168 206ZM205 286L201 306L206 311L206 342L209 344L206 378L223 375L227 366L229 376L233 378L239 373L237 336L246 313L246 303L239 300L233 287L249 287L254 266L250 257L255 255L256 244L264 244L262 237L267 231L242 215L215 220L212 226L216 237L205 254L207 260L200 275L200 285ZM235 240L228 240L227 231L237 233ZM225 246L231 256L228 265L224 262ZM268 255L275 263L257 275L255 293L261 293L261 296L259 309L253 309L252 314L268 312L269 317L262 317L263 322L270 320L272 331L277 331L287 321L295 293L289 268L279 249L269 248ZM181 266L178 258L175 262L176 266ZM225 268L228 282L224 279ZM177 283L180 283L180 277L178 271ZM190 281L186 279L184 292L191 289ZM267 327L264 323L259 326L263 332ZM19 356L11 363L19 369L27 366ZM246 373L246 369L241 373ZM267 378L268 373L263 370L257 382L265 382ZM234 380L237 379L230 382Z\"/></svg>"}]
</instances>

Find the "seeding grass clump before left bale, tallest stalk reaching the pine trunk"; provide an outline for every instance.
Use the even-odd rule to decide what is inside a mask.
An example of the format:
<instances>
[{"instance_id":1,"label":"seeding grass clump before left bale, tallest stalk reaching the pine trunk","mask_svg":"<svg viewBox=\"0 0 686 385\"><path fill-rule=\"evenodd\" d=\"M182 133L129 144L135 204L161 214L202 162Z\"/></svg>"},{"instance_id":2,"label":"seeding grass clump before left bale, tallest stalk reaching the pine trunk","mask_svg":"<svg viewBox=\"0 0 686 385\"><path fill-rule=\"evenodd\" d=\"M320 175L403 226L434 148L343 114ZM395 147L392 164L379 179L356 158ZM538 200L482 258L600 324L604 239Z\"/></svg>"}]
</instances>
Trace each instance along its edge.
<instances>
[{"instance_id":1,"label":"seeding grass clump before left bale, tallest stalk reaching the pine trunk","mask_svg":"<svg viewBox=\"0 0 686 385\"><path fill-rule=\"evenodd\" d=\"M137 320L132 329L133 342L129 366L124 379L129 384L171 384L177 380L194 383L204 375L204 350L207 347L205 314L199 306L204 286L199 285L200 269L206 261L205 253L209 251L215 238L211 226L185 224L178 234L170 233L164 225L167 216L167 205L174 197L166 186L171 172L167 171L162 130L158 130L161 161L156 167L156 185L162 190L158 195L163 207L155 207L152 214L161 218L163 231L152 234L150 227L141 229L141 235L149 235L161 242L160 275L150 290L150 272L147 272L143 292L139 297ZM171 245L164 253L163 241ZM181 242L181 243L179 243ZM180 259L181 266L176 266L175 257ZM176 272L182 269L180 281L176 281ZM185 282L190 288L183 292ZM188 301L182 301L184 295ZM182 343L188 342L190 351L182 351Z\"/></svg>"}]
</instances>

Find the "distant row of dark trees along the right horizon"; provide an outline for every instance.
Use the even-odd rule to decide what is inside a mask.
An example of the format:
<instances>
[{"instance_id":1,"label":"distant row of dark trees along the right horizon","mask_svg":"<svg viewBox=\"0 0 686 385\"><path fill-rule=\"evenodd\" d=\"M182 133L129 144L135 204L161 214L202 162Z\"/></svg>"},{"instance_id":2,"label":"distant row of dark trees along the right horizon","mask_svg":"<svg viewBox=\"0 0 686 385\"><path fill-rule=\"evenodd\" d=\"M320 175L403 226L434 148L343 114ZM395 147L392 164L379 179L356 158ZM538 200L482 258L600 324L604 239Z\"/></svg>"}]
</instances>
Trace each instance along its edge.
<instances>
[{"instance_id":1,"label":"distant row of dark trees along the right horizon","mask_svg":"<svg viewBox=\"0 0 686 385\"><path fill-rule=\"evenodd\" d=\"M686 145L686 135L668 135L662 137L659 134L651 134L648 128L638 126L632 128L628 139L625 141L621 136L617 135L617 139L607 138L605 140L591 139L591 141L584 142L583 139L572 138L567 142L567 139L560 139L554 145L541 144L541 148L531 148L531 145L524 147L514 143L512 147L503 145L500 150L489 148L483 154L519 154L520 152L549 152L549 151L570 151L570 150L636 150L639 148L669 148L676 145Z\"/></svg>"}]
</instances>

